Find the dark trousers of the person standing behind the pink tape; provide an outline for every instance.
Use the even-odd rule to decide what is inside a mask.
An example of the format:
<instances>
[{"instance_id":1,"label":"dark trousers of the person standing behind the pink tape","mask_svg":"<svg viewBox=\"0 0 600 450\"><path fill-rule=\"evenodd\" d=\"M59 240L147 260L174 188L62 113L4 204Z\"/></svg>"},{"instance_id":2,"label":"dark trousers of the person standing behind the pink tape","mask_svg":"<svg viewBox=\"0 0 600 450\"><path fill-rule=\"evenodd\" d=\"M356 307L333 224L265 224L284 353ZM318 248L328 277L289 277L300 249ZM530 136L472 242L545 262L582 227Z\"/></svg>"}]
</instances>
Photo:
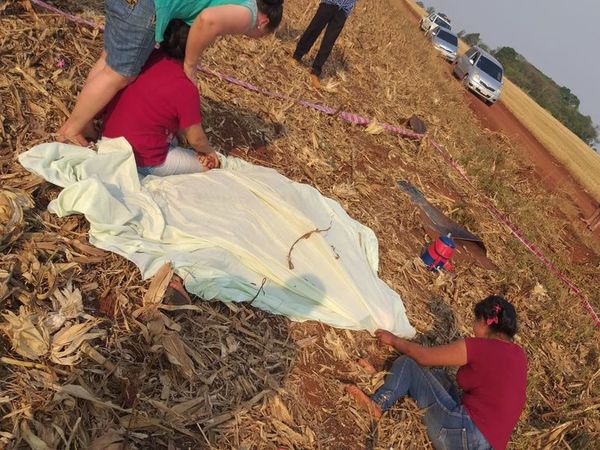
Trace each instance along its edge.
<instances>
[{"instance_id":1,"label":"dark trousers of the person standing behind the pink tape","mask_svg":"<svg viewBox=\"0 0 600 450\"><path fill-rule=\"evenodd\" d=\"M298 41L294 58L297 60L302 59L310 51L321 31L323 31L323 28L327 27L325 36L323 36L323 42L321 42L321 48L319 48L319 52L312 65L312 73L317 76L321 75L323 64L329 58L333 45L342 32L345 23L346 13L343 9L335 5L321 3L315 17L313 17L313 20Z\"/></svg>"}]
</instances>

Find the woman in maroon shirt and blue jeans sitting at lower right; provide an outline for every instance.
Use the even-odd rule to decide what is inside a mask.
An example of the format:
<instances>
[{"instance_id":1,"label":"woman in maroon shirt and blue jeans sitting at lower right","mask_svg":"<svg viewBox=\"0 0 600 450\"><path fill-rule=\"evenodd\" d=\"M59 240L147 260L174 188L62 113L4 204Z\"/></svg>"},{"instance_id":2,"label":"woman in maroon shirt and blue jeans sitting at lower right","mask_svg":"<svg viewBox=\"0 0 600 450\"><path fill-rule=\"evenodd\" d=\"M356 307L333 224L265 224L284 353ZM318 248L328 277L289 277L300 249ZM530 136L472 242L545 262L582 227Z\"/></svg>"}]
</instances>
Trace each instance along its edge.
<instances>
[{"instance_id":1,"label":"woman in maroon shirt and blue jeans sitting at lower right","mask_svg":"<svg viewBox=\"0 0 600 450\"><path fill-rule=\"evenodd\" d=\"M515 308L503 297L490 296L475 306L474 338L425 347L384 330L381 344L405 356L398 358L370 397L354 385L346 391L375 418L409 395L424 408L427 434L437 449L506 448L525 406L527 357L512 342L517 332ZM364 360L368 370L373 367ZM462 398L443 369L460 366L456 375Z\"/></svg>"}]
</instances>

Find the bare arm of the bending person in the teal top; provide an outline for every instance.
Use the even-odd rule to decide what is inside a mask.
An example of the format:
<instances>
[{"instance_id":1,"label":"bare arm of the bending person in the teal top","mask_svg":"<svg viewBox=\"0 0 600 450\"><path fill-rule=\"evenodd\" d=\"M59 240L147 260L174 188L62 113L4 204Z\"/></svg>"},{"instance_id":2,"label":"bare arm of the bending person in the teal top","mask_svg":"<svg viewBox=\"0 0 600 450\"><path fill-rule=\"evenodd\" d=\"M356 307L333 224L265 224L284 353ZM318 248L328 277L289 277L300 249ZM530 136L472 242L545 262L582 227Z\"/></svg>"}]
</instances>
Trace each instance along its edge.
<instances>
[{"instance_id":1,"label":"bare arm of the bending person in the teal top","mask_svg":"<svg viewBox=\"0 0 600 450\"><path fill-rule=\"evenodd\" d=\"M243 34L251 26L252 13L245 6L212 6L198 14L190 28L185 47L184 70L188 78L194 81L200 56L218 36Z\"/></svg>"}]
</instances>

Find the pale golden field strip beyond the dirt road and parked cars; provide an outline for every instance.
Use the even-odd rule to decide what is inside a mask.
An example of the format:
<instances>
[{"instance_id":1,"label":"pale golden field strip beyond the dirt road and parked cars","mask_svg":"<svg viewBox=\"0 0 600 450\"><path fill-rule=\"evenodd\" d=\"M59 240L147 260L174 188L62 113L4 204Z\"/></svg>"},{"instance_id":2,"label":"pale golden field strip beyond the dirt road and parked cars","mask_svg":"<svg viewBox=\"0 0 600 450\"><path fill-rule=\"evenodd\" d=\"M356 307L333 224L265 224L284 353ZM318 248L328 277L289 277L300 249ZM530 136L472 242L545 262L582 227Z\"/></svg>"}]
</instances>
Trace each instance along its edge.
<instances>
[{"instance_id":1,"label":"pale golden field strip beyond the dirt road and parked cars","mask_svg":"<svg viewBox=\"0 0 600 450\"><path fill-rule=\"evenodd\" d=\"M425 15L423 8L413 0L405 1L418 15ZM459 41L459 52L469 46ZM600 199L600 154L565 127L552 114L538 105L509 79L505 79L502 102L550 153L564 165L595 198Z\"/></svg>"}]
</instances>

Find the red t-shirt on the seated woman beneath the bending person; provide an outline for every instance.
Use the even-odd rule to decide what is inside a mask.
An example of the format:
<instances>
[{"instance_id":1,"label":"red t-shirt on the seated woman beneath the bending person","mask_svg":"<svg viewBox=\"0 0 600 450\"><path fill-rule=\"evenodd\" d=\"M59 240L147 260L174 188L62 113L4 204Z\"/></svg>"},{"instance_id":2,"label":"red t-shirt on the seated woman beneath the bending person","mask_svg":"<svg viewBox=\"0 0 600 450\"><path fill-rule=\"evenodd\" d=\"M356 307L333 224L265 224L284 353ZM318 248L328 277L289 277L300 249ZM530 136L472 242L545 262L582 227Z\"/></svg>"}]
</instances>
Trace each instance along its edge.
<instances>
[{"instance_id":1,"label":"red t-shirt on the seated woman beneath the bending person","mask_svg":"<svg viewBox=\"0 0 600 450\"><path fill-rule=\"evenodd\" d=\"M155 50L106 107L102 136L125 137L138 166L159 166L175 133L201 122L200 94L182 63Z\"/></svg>"}]
</instances>

